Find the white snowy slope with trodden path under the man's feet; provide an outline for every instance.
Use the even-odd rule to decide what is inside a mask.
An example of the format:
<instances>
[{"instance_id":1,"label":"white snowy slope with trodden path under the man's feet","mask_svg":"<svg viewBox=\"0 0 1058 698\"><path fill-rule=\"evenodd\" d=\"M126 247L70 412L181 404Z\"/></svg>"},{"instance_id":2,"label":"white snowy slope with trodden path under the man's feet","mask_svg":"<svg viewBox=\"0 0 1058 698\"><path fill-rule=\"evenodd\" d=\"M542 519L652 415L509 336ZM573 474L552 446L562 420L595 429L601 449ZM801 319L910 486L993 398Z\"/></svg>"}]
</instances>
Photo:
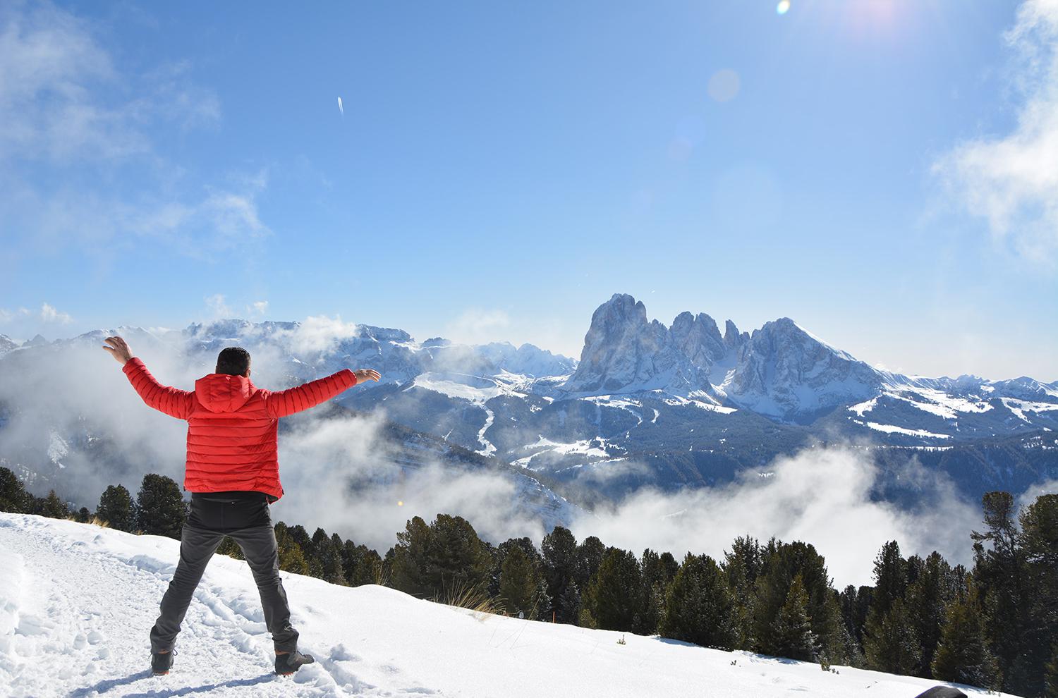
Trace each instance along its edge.
<instances>
[{"instance_id":1,"label":"white snowy slope with trodden path under the man's feet","mask_svg":"<svg viewBox=\"0 0 1058 698\"><path fill-rule=\"evenodd\" d=\"M12 696L703 696L912 698L931 682L685 643L474 614L384 587L285 574L302 648L318 663L271 674L244 563L214 558L154 678L147 632L176 540L0 514L0 694ZM983 691L964 688L971 696Z\"/></svg>"}]
</instances>

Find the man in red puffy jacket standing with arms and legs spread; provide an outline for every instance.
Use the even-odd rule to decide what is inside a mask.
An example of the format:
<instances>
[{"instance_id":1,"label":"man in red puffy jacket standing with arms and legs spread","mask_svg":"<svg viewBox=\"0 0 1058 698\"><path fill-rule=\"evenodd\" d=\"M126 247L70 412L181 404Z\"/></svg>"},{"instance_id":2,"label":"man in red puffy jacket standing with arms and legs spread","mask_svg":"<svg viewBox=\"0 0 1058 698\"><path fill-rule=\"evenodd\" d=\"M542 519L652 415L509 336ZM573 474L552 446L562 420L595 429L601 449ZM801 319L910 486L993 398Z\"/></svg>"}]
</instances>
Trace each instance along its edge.
<instances>
[{"instance_id":1,"label":"man in red puffy jacket standing with arms and legs spread","mask_svg":"<svg viewBox=\"0 0 1058 698\"><path fill-rule=\"evenodd\" d=\"M190 392L161 385L120 336L107 337L110 352L148 406L187 420L184 490L191 493L190 515L180 536L180 563L162 598L162 612L150 630L150 668L169 673L172 645L206 563L225 535L242 549L264 608L264 624L275 644L275 673L289 676L315 661L297 651L297 630L279 578L279 555L269 504L282 496L276 451L280 417L314 407L378 371L343 369L333 375L271 392L250 382L250 353L229 347L217 370L195 382Z\"/></svg>"}]
</instances>

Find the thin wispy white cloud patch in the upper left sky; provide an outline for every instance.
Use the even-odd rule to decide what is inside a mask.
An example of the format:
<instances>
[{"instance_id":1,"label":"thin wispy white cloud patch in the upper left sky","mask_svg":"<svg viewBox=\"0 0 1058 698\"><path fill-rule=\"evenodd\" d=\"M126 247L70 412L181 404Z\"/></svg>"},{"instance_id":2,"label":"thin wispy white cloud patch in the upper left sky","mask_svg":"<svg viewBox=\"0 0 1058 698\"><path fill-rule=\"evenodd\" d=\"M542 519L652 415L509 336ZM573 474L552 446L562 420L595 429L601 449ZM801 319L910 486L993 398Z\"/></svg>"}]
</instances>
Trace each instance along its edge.
<instances>
[{"instance_id":1,"label":"thin wispy white cloud patch in the upper left sky","mask_svg":"<svg viewBox=\"0 0 1058 698\"><path fill-rule=\"evenodd\" d=\"M159 153L160 137L220 120L190 75L186 62L120 70L65 10L0 8L0 217L20 232L13 254L73 247L107 267L144 239L208 258L270 233L262 174L199 181Z\"/></svg>"}]
</instances>

